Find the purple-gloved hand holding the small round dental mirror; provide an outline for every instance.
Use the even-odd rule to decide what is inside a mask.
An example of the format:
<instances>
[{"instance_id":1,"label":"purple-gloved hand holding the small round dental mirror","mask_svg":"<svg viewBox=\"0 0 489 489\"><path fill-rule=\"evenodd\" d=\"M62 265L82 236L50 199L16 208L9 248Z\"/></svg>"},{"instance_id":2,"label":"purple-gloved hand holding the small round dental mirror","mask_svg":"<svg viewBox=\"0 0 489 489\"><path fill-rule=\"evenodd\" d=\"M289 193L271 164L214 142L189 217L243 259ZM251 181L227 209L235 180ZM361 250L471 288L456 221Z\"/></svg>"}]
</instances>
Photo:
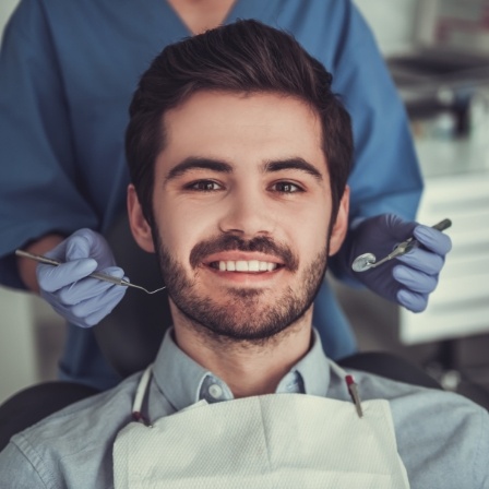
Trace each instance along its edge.
<instances>
[{"instance_id":1,"label":"purple-gloved hand holding the small round dental mirror","mask_svg":"<svg viewBox=\"0 0 489 489\"><path fill-rule=\"evenodd\" d=\"M346 265L351 275L385 299L414 312L424 311L429 295L437 288L445 254L452 248L450 237L431 227L403 220L394 214L367 218L350 232ZM366 272L351 270L351 263L358 255L373 253L380 261L397 243L412 236L420 246L406 254Z\"/></svg>"}]
</instances>

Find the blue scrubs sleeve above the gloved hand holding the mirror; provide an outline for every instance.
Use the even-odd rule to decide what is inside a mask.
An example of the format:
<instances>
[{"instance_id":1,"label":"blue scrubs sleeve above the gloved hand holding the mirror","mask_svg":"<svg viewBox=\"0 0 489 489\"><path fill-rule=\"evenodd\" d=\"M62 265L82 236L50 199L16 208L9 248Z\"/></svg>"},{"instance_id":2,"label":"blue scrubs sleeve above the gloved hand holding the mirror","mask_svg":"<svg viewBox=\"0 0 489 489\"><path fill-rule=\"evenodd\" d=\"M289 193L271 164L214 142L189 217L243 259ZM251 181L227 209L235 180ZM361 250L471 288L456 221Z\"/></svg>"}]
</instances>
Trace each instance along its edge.
<instances>
[{"instance_id":1,"label":"blue scrubs sleeve above the gloved hand holding the mirror","mask_svg":"<svg viewBox=\"0 0 489 489\"><path fill-rule=\"evenodd\" d=\"M354 130L350 222L385 213L413 220L422 178L406 110L370 28L351 2L344 4L333 91L348 109ZM338 255L345 251L343 247ZM331 270L345 279L350 275L341 269L343 262L334 258Z\"/></svg>"}]
</instances>

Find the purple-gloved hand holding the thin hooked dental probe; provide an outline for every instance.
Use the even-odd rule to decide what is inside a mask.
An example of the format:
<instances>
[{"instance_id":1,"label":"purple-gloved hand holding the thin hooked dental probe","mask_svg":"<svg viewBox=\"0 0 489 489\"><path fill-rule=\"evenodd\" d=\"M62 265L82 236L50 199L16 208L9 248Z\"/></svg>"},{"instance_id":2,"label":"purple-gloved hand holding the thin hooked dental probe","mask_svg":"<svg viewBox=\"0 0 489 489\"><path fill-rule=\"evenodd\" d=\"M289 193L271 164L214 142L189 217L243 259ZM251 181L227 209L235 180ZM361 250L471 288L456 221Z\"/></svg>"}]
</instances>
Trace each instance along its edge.
<instances>
[{"instance_id":1,"label":"purple-gloved hand holding the thin hooked dental probe","mask_svg":"<svg viewBox=\"0 0 489 489\"><path fill-rule=\"evenodd\" d=\"M45 253L62 262L36 267L40 296L69 322L91 327L122 299L128 287L88 277L95 271L122 278L107 241L91 229L80 229ZM127 278L126 278L127 279Z\"/></svg>"}]
</instances>

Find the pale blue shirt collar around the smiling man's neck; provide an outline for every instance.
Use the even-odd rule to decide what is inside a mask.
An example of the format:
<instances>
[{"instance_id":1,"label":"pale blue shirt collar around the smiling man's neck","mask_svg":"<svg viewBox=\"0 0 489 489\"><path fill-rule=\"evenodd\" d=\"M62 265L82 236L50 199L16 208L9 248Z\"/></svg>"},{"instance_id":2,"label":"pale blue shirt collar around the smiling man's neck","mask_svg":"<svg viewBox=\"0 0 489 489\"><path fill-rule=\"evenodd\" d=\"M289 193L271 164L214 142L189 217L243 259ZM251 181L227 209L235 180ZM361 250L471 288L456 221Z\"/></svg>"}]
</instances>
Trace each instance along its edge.
<instances>
[{"instance_id":1,"label":"pale blue shirt collar around the smiling man's neck","mask_svg":"<svg viewBox=\"0 0 489 489\"><path fill-rule=\"evenodd\" d=\"M210 385L218 384L223 395L232 398L226 383L184 354L175 343L169 329L156 356L153 375L156 384L176 410L181 410L206 395ZM324 397L330 384L330 366L318 332L312 330L312 346L278 383L277 393L300 392Z\"/></svg>"}]
</instances>

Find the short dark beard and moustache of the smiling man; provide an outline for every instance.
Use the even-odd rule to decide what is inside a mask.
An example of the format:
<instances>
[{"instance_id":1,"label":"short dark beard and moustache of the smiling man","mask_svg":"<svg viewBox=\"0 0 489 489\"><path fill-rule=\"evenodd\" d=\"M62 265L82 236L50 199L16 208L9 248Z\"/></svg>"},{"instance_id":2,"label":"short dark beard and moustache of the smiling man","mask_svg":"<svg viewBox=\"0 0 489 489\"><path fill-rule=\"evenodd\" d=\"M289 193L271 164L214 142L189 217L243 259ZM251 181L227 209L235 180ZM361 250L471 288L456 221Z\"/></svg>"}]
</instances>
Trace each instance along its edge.
<instances>
[{"instance_id":1,"label":"short dark beard and moustache of the smiling man","mask_svg":"<svg viewBox=\"0 0 489 489\"><path fill-rule=\"evenodd\" d=\"M163 244L155 229L155 249L167 290L179 311L199 330L214 339L263 344L296 323L311 307L326 271L329 240L318 255L299 271L299 260L291 250L270 238L244 241L223 235L198 243L190 253L195 274L190 277ZM199 269L205 257L219 251L260 251L275 255L293 276L291 285L273 299L271 288L229 286L216 290L198 290ZM218 273L218 272L217 272ZM265 272L266 273L266 272Z\"/></svg>"}]
</instances>

